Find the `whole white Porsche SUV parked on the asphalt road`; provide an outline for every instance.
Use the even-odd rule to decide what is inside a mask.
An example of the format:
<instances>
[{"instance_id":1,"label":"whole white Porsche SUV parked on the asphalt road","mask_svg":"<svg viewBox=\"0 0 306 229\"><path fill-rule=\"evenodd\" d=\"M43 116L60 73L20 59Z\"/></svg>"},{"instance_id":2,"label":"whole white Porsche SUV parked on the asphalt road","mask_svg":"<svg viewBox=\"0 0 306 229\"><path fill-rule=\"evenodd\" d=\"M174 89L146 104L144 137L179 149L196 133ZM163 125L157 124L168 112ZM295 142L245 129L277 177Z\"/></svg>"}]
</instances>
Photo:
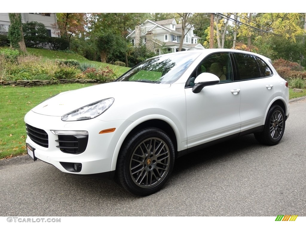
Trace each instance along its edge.
<instances>
[{"instance_id":1,"label":"whole white Porsche SUV parked on the asphalt road","mask_svg":"<svg viewBox=\"0 0 306 229\"><path fill-rule=\"evenodd\" d=\"M204 49L155 56L115 82L59 93L24 121L34 161L148 195L177 158L207 145L250 133L278 144L288 116L288 83L270 59Z\"/></svg>"}]
</instances>

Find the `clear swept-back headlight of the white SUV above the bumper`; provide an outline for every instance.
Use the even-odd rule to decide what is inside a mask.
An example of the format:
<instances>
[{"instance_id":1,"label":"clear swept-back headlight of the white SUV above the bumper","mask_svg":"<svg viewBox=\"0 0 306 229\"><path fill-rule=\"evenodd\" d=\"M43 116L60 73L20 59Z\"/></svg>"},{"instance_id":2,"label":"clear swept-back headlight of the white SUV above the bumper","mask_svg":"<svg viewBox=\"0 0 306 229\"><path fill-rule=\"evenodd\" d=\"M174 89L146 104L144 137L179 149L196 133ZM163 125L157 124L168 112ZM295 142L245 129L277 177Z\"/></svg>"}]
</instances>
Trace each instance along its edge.
<instances>
[{"instance_id":1,"label":"clear swept-back headlight of the white SUV above the bumper","mask_svg":"<svg viewBox=\"0 0 306 229\"><path fill-rule=\"evenodd\" d=\"M114 103L114 98L108 98L80 107L62 116L62 121L79 121L95 118L101 115Z\"/></svg>"}]
</instances>

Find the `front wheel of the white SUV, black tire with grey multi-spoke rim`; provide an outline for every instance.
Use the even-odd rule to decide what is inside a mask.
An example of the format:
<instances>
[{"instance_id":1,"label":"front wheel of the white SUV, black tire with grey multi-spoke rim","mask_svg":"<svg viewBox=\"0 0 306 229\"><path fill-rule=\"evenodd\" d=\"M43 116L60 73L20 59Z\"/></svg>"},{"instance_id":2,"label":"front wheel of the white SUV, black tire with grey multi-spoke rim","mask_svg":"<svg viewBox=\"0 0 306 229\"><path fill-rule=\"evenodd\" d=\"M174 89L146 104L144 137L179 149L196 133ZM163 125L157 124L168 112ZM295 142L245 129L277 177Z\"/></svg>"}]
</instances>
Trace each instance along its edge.
<instances>
[{"instance_id":1,"label":"front wheel of the white SUV, black tire with grey multi-spoke rim","mask_svg":"<svg viewBox=\"0 0 306 229\"><path fill-rule=\"evenodd\" d=\"M170 176L174 158L174 145L164 131L154 127L142 129L129 136L121 146L116 180L132 194L153 194Z\"/></svg>"}]
</instances>

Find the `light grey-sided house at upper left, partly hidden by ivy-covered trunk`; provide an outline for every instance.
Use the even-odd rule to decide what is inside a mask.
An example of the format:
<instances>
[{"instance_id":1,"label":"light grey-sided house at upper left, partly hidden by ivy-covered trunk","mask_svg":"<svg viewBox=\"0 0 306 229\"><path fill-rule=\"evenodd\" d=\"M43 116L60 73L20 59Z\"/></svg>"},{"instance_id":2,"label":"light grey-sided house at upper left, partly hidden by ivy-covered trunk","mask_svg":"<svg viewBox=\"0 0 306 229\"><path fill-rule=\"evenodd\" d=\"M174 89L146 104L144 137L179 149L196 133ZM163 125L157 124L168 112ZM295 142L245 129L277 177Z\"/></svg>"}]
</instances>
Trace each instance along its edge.
<instances>
[{"instance_id":1,"label":"light grey-sided house at upper left, partly hidden by ivy-covered trunk","mask_svg":"<svg viewBox=\"0 0 306 229\"><path fill-rule=\"evenodd\" d=\"M57 24L56 13L21 13L21 22L37 21L45 25L50 37L60 37L52 24ZM9 31L9 13L0 13L0 34L7 35Z\"/></svg>"}]
</instances>

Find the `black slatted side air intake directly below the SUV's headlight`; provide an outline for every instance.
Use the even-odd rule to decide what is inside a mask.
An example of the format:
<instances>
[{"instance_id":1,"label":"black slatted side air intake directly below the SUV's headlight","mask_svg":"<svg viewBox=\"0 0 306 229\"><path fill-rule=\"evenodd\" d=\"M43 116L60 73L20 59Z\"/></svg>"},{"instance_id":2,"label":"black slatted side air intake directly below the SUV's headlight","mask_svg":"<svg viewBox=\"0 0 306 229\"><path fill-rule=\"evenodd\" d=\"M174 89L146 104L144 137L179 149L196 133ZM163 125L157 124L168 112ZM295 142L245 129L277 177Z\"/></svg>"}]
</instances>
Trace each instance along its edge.
<instances>
[{"instance_id":1,"label":"black slatted side air intake directly below the SUV's headlight","mask_svg":"<svg viewBox=\"0 0 306 229\"><path fill-rule=\"evenodd\" d=\"M64 153L80 154L87 147L88 135L58 135L58 148Z\"/></svg>"}]
</instances>

